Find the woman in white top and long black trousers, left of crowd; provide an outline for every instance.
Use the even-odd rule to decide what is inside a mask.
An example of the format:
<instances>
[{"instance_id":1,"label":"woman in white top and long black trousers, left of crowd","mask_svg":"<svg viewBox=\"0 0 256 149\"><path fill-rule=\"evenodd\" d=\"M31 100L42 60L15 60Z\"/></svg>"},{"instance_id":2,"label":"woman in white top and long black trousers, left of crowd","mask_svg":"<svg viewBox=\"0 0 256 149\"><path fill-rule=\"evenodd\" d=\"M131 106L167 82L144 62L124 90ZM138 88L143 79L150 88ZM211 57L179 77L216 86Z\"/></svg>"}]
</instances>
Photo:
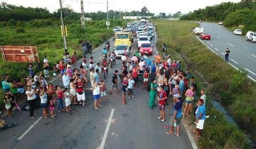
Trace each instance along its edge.
<instances>
[{"instance_id":1,"label":"woman in white top and long black trousers, left of crowd","mask_svg":"<svg viewBox=\"0 0 256 149\"><path fill-rule=\"evenodd\" d=\"M35 119L33 116L36 115L34 113L35 101L36 101L36 94L35 90L31 89L31 86L27 86L26 95L28 96L28 104L29 104L29 112L30 118Z\"/></svg>"}]
</instances>

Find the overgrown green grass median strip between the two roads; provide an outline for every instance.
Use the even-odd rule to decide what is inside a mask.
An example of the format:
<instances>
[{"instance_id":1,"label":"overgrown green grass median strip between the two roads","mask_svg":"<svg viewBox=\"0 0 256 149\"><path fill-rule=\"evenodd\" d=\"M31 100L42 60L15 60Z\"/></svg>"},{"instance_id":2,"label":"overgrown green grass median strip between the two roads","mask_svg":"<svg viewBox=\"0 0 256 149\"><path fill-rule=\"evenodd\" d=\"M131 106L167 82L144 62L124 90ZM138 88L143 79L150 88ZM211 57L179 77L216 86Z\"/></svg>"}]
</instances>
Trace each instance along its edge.
<instances>
[{"instance_id":1,"label":"overgrown green grass median strip between the two roads","mask_svg":"<svg viewBox=\"0 0 256 149\"><path fill-rule=\"evenodd\" d=\"M207 94L222 98L238 125L256 139L256 85L246 75L236 71L199 42L191 29L197 23L183 21L156 21L158 43L161 48L167 44L172 59L181 60L194 71L199 81L210 82ZM182 69L186 67L182 66ZM207 108L210 108L210 103ZM249 148L245 134L228 123L223 115L208 109L210 118L206 119L203 137L199 139L202 148ZM214 118L214 116L216 118Z\"/></svg>"}]
</instances>

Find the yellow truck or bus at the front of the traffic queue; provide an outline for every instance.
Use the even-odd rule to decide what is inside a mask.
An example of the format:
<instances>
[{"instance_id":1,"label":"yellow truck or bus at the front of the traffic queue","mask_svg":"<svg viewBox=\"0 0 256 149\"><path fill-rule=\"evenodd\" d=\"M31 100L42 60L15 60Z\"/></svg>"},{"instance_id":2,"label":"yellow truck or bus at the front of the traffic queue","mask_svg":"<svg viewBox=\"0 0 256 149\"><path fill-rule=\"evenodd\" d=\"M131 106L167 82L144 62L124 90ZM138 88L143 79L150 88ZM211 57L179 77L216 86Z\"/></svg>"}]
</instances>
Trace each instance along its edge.
<instances>
[{"instance_id":1,"label":"yellow truck or bus at the front of the traffic queue","mask_svg":"<svg viewBox=\"0 0 256 149\"><path fill-rule=\"evenodd\" d=\"M131 49L131 38L132 35L129 34L129 32L117 32L115 34L115 46L117 45L128 45L128 47Z\"/></svg>"}]
</instances>

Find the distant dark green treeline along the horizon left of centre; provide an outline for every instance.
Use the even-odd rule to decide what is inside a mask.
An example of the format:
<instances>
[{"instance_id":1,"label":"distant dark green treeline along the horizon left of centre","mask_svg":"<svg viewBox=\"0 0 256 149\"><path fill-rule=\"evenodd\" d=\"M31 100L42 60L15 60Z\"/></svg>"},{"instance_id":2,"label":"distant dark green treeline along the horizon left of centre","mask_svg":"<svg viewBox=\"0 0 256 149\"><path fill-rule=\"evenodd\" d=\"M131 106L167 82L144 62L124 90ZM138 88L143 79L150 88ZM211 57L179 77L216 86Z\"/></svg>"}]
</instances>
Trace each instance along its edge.
<instances>
[{"instance_id":1,"label":"distant dark green treeline along the horizon left of centre","mask_svg":"<svg viewBox=\"0 0 256 149\"><path fill-rule=\"evenodd\" d=\"M81 13L74 12L71 9L63 8L62 14L65 19L80 20ZM85 17L92 18L93 20L105 20L107 18L106 12L90 12L85 13ZM109 10L110 20L119 20L125 15L125 12ZM146 6L142 7L141 11L126 12L126 15L142 15L153 16L154 13L150 13ZM49 10L43 8L23 7L7 4L5 2L0 3L0 21L31 21L35 19L60 19L60 9L57 12L50 13Z\"/></svg>"}]
</instances>

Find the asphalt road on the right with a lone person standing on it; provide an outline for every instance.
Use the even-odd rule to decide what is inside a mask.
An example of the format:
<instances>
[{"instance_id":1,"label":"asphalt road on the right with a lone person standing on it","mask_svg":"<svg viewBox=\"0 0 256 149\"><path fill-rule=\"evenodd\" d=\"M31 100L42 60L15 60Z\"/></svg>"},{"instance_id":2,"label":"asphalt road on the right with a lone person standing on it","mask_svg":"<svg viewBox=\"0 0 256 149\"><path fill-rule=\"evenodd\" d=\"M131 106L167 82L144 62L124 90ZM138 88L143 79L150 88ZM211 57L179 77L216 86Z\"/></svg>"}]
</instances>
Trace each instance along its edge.
<instances>
[{"instance_id":1,"label":"asphalt road on the right with a lone person standing on it","mask_svg":"<svg viewBox=\"0 0 256 149\"><path fill-rule=\"evenodd\" d=\"M245 36L233 35L217 23L200 23L205 32L211 34L211 40L201 40L211 51L225 60L225 50L230 50L229 63L239 70L245 70L247 76L256 81L256 43L245 40Z\"/></svg>"}]
</instances>

